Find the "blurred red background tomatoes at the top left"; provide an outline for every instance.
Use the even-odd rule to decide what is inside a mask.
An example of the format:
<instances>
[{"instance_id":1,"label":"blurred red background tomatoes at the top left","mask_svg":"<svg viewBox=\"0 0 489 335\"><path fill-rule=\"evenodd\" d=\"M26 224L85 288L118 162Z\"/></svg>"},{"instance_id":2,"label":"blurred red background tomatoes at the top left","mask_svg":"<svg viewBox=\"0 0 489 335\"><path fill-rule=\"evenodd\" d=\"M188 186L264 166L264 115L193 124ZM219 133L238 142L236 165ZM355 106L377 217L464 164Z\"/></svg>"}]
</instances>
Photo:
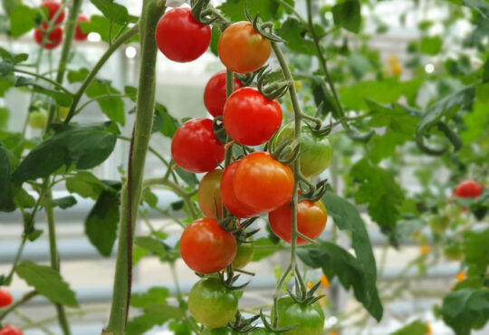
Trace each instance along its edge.
<instances>
[{"instance_id":1,"label":"blurred red background tomatoes at the top left","mask_svg":"<svg viewBox=\"0 0 489 335\"><path fill-rule=\"evenodd\" d=\"M43 45L44 49L52 50L62 43L62 23L64 21L64 9L62 5L56 1L45 1L41 4L48 11L47 21L43 20L40 28L34 29L34 40L39 45ZM84 41L88 34L85 34L80 29L81 21L89 21L85 15L78 15L77 24L73 38L76 41ZM51 29L50 28L51 25ZM48 32L48 30L50 30ZM47 35L47 38L44 36ZM43 41L45 38L45 41Z\"/></svg>"}]
</instances>

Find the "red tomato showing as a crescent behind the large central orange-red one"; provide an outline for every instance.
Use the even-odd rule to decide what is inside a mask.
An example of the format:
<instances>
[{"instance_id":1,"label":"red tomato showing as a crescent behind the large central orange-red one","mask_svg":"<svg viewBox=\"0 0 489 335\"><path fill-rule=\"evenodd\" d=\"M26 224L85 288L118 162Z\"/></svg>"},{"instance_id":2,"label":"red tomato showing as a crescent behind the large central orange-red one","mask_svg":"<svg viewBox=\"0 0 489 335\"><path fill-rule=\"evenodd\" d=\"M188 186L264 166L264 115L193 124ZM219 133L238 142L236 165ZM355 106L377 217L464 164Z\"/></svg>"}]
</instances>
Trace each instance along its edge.
<instances>
[{"instance_id":1,"label":"red tomato showing as a crescent behind the large central orange-red one","mask_svg":"<svg viewBox=\"0 0 489 335\"><path fill-rule=\"evenodd\" d=\"M225 209L227 209L229 213L236 217L249 218L259 215L260 212L254 211L243 205L235 195L233 180L235 178L236 168L239 167L240 163L241 160L236 160L225 168L223 177L221 177L221 198L225 205Z\"/></svg>"}]
</instances>

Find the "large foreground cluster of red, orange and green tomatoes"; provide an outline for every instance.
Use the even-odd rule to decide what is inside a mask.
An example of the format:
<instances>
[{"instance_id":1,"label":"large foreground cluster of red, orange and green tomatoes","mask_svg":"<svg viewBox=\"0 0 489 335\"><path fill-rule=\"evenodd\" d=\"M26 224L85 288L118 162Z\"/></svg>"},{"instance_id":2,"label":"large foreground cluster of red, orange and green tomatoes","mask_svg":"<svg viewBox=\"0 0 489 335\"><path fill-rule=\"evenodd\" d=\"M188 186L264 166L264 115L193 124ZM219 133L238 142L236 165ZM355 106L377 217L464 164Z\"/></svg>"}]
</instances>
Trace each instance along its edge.
<instances>
[{"instance_id":1,"label":"large foreground cluster of red, orange and green tomatoes","mask_svg":"<svg viewBox=\"0 0 489 335\"><path fill-rule=\"evenodd\" d=\"M197 59L205 53L210 39L209 26L198 22L188 8L169 10L156 28L158 49L175 62ZM227 73L250 73L267 62L271 43L256 32L252 24L238 22L225 28L217 50ZM223 71L217 72L207 82L204 103L206 110L218 121L204 118L187 120L172 139L171 154L178 167L193 173L206 173L197 193L198 206L205 217L187 225L180 239L180 254L193 271L217 273L229 265L240 269L253 258L253 241L240 234L241 219L268 213L273 232L283 241L291 243L290 204L295 181L291 166L283 164L268 152L248 147L271 141L281 128L283 114L278 101L268 99L254 87L244 87L236 78L233 79L233 92L227 97L226 72ZM216 137L214 126L221 120L226 139ZM283 127L271 142L279 143L293 138L292 123ZM305 126L302 138L302 175L317 176L330 164L331 144L327 139L315 138L312 130ZM225 160L226 150L231 150L232 146L241 147L248 154L235 161L226 159L225 168L219 168ZM229 227L228 218L235 225ZM302 235L317 238L326 221L326 209L321 201L302 200L299 203L297 229ZM306 244L308 241L299 237L296 243ZM294 303L290 297L282 300L279 301L279 314L286 313L288 306ZM322 315L321 309L317 311L316 306L303 307L311 308L312 314ZM188 309L206 327L224 327L235 317L237 299L223 282L211 276L197 282L192 288L188 296ZM321 318L318 323L323 321L323 315ZM290 317L283 317L283 322L290 320ZM321 328L322 323L319 325Z\"/></svg>"}]
</instances>

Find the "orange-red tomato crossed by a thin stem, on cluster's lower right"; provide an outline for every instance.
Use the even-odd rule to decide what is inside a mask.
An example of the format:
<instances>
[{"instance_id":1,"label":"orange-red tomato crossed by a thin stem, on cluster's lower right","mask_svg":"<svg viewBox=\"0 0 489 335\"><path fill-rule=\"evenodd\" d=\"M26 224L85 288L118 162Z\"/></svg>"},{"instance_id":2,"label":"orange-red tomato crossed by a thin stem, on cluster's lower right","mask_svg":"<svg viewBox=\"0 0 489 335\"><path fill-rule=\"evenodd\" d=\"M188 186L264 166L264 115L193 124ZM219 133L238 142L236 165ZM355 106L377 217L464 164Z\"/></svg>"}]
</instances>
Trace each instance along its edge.
<instances>
[{"instance_id":1,"label":"orange-red tomato crossed by a thin stem, on cluster's lower right","mask_svg":"<svg viewBox=\"0 0 489 335\"><path fill-rule=\"evenodd\" d=\"M321 201L312 202L302 200L297 208L297 230L309 238L315 240L321 235L328 214L326 208ZM292 240L292 208L288 204L275 209L268 214L270 227L275 235L283 239L283 241L291 243ZM302 237L297 238L297 244L308 244L307 240Z\"/></svg>"}]
</instances>

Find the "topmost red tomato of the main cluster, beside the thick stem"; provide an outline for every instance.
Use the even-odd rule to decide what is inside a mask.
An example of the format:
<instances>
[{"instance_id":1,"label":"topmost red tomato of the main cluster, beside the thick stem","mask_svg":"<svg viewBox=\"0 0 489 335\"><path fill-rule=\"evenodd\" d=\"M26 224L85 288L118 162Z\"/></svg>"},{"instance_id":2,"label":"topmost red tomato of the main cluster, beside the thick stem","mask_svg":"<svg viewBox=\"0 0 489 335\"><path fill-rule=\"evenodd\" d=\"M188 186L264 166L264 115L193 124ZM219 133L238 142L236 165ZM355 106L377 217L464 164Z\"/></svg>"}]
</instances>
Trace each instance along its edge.
<instances>
[{"instance_id":1,"label":"topmost red tomato of the main cluster, beside the thick stem","mask_svg":"<svg viewBox=\"0 0 489 335\"><path fill-rule=\"evenodd\" d=\"M158 21L158 49L174 62L191 62L205 53L211 38L208 25L199 23L189 8L173 8Z\"/></svg>"}]
</instances>

